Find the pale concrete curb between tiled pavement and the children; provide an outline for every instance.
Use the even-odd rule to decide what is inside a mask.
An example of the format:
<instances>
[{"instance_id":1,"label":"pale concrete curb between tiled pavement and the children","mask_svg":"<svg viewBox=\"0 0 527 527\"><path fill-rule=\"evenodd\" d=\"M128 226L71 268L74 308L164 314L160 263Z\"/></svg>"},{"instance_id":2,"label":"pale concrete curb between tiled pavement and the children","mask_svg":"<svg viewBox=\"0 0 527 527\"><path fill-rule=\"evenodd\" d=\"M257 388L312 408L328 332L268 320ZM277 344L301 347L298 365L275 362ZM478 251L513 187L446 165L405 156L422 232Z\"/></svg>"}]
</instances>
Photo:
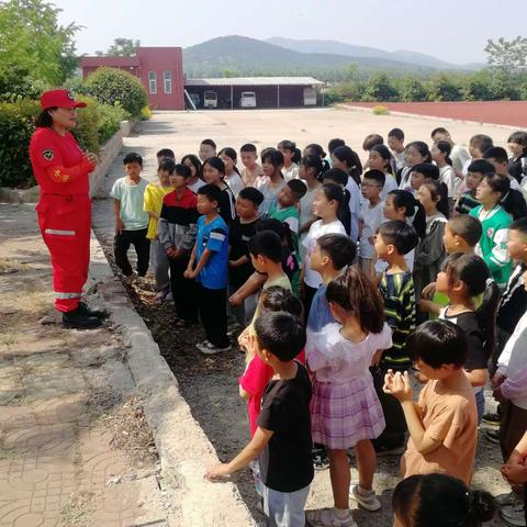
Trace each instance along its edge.
<instances>
[{"instance_id":1,"label":"pale concrete curb between tiled pavement and the children","mask_svg":"<svg viewBox=\"0 0 527 527\"><path fill-rule=\"evenodd\" d=\"M256 526L234 483L204 480L206 467L218 462L214 447L192 417L158 345L113 274L93 234L90 278L128 346L127 365L144 399L161 463L161 492L169 503L168 525Z\"/></svg>"}]
</instances>

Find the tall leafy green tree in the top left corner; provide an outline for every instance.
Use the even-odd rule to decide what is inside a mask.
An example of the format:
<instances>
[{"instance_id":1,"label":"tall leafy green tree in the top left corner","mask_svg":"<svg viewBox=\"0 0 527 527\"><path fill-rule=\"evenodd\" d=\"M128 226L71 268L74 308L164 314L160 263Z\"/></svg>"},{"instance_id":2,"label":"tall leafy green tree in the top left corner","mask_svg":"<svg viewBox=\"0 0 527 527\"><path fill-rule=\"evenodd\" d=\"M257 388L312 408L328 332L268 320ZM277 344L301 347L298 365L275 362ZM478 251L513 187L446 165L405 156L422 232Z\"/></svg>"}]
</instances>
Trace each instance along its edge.
<instances>
[{"instance_id":1,"label":"tall leafy green tree in the top left corner","mask_svg":"<svg viewBox=\"0 0 527 527\"><path fill-rule=\"evenodd\" d=\"M43 0L0 3L0 71L18 67L51 85L70 77L77 67L74 38L81 26L60 25L60 11Z\"/></svg>"}]
</instances>

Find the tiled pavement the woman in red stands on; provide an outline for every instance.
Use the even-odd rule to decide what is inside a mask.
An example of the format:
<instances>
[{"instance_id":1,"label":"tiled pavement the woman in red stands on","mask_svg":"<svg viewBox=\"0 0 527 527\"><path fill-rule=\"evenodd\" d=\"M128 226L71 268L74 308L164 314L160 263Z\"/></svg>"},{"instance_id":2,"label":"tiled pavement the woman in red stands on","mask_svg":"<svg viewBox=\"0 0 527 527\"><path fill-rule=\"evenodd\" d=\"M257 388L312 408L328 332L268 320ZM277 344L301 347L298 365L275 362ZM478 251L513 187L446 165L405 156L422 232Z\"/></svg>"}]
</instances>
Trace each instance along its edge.
<instances>
[{"instance_id":1,"label":"tiled pavement the woman in red stands on","mask_svg":"<svg viewBox=\"0 0 527 527\"><path fill-rule=\"evenodd\" d=\"M133 390L119 338L37 323L51 269L34 211L1 205L0 224L13 214L19 232L0 235L0 527L165 525L155 467L114 449L90 404Z\"/></svg>"}]
</instances>

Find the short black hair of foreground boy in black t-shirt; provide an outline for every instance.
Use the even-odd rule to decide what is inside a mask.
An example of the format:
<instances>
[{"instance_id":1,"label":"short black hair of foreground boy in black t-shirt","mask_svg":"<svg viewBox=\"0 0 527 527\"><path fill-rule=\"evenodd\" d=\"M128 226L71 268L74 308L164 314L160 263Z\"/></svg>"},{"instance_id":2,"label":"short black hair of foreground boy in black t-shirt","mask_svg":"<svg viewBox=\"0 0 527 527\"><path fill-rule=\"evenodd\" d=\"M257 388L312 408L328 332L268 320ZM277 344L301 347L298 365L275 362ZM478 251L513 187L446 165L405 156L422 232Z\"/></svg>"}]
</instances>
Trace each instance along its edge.
<instances>
[{"instance_id":1,"label":"short black hair of foreground boy in black t-shirt","mask_svg":"<svg viewBox=\"0 0 527 527\"><path fill-rule=\"evenodd\" d=\"M298 316L283 311L264 313L255 322L260 349L274 355L281 362L293 360L305 347L305 328Z\"/></svg>"}]
</instances>

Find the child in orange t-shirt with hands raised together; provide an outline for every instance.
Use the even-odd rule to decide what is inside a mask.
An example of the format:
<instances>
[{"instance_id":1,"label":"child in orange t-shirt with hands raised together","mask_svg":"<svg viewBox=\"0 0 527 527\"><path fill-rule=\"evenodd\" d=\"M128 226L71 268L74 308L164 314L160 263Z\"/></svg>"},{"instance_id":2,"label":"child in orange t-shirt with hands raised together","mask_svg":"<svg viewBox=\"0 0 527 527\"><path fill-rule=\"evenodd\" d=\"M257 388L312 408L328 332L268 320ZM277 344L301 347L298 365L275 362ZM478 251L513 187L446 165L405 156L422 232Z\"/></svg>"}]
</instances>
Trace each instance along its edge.
<instances>
[{"instance_id":1,"label":"child in orange t-shirt with hands raised together","mask_svg":"<svg viewBox=\"0 0 527 527\"><path fill-rule=\"evenodd\" d=\"M463 330L448 321L428 321L408 339L421 373L429 381L414 404L408 372L389 371L384 392L403 407L410 439L401 459L403 478L442 472L472 479L478 442L478 412L463 370L469 347Z\"/></svg>"}]
</instances>

